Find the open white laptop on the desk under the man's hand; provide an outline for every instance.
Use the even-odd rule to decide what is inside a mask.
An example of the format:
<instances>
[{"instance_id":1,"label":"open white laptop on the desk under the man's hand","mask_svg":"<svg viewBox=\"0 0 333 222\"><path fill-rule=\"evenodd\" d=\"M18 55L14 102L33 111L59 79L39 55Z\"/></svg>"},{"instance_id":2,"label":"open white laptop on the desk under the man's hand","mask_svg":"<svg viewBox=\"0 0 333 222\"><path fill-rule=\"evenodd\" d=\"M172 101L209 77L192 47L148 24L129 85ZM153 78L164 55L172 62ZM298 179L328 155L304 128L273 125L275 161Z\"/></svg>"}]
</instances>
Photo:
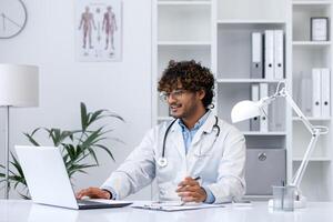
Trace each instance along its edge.
<instances>
[{"instance_id":1,"label":"open white laptop on the desk under the man's hand","mask_svg":"<svg viewBox=\"0 0 333 222\"><path fill-rule=\"evenodd\" d=\"M77 200L59 148L16 145L16 151L34 203L78 210L131 204L125 201Z\"/></svg>"}]
</instances>

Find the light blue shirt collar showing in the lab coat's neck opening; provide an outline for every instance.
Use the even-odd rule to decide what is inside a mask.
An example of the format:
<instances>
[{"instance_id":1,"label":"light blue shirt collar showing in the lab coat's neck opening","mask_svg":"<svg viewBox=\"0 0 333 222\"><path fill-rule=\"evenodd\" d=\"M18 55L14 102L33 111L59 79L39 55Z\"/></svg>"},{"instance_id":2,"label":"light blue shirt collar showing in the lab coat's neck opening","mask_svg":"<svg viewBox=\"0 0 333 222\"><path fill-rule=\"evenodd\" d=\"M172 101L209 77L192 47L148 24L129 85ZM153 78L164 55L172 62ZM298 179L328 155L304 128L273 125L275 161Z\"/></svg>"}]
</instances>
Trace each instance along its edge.
<instances>
[{"instance_id":1,"label":"light blue shirt collar showing in the lab coat's neck opening","mask_svg":"<svg viewBox=\"0 0 333 222\"><path fill-rule=\"evenodd\" d=\"M198 122L194 124L194 127L193 127L191 130L189 130L189 129L186 128L186 125L183 123L182 120L179 120L179 124L180 124L180 127L181 127L181 129L182 129L182 134L183 134L183 140L184 140L184 144L185 144L185 152L186 152L186 153L188 153L188 150L189 150L189 148L190 148L190 145L191 145L191 142L192 142L192 140L193 140L195 133L196 133L198 130L204 124L204 122L206 121L206 119L208 119L210 112L211 112L210 110L206 111L205 114L202 115L202 117L198 120Z\"/></svg>"}]
</instances>

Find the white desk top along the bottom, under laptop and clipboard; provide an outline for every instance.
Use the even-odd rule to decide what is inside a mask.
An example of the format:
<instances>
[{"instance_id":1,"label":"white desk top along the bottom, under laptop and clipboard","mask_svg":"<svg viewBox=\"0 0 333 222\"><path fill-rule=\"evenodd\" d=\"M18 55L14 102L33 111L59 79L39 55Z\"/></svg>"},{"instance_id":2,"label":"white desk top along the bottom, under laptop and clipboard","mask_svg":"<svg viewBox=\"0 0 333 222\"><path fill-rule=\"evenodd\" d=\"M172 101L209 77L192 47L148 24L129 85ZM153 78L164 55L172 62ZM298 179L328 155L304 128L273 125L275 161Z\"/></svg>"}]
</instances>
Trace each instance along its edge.
<instances>
[{"instance_id":1,"label":"white desk top along the bottom, under laptop and clipboard","mask_svg":"<svg viewBox=\"0 0 333 222\"><path fill-rule=\"evenodd\" d=\"M159 212L132 209L68 210L32 204L31 201L0 200L0 222L332 222L333 202L310 202L294 212L273 212L266 202L251 208L228 205L198 211Z\"/></svg>"}]
</instances>

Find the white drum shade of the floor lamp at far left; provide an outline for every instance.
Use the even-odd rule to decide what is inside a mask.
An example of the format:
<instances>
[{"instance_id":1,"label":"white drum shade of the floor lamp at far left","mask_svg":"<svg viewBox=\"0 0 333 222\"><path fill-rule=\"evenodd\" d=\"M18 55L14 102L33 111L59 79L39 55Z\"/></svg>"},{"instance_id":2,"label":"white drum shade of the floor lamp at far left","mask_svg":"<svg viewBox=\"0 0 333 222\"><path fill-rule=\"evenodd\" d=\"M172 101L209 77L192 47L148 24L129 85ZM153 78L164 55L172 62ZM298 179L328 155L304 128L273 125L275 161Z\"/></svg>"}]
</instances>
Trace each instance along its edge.
<instances>
[{"instance_id":1,"label":"white drum shade of the floor lamp at far left","mask_svg":"<svg viewBox=\"0 0 333 222\"><path fill-rule=\"evenodd\" d=\"M38 107L38 73L34 65L0 64L0 105Z\"/></svg>"}]
</instances>

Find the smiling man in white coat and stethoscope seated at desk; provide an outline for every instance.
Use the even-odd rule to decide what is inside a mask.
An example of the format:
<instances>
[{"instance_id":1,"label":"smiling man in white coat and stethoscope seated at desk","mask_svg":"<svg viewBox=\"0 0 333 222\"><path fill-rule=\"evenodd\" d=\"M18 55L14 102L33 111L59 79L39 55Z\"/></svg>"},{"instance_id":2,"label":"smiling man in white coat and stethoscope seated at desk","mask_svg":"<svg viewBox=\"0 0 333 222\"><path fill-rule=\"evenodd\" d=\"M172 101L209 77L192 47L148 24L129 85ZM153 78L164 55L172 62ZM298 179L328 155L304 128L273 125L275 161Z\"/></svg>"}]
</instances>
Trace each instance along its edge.
<instances>
[{"instance_id":1,"label":"smiling man in white coat and stethoscope seated at desk","mask_svg":"<svg viewBox=\"0 0 333 222\"><path fill-rule=\"evenodd\" d=\"M154 179L159 200L221 203L244 194L245 139L210 110L214 78L195 61L170 61L159 81L174 118L151 129L101 188L77 198L124 199Z\"/></svg>"}]
</instances>

